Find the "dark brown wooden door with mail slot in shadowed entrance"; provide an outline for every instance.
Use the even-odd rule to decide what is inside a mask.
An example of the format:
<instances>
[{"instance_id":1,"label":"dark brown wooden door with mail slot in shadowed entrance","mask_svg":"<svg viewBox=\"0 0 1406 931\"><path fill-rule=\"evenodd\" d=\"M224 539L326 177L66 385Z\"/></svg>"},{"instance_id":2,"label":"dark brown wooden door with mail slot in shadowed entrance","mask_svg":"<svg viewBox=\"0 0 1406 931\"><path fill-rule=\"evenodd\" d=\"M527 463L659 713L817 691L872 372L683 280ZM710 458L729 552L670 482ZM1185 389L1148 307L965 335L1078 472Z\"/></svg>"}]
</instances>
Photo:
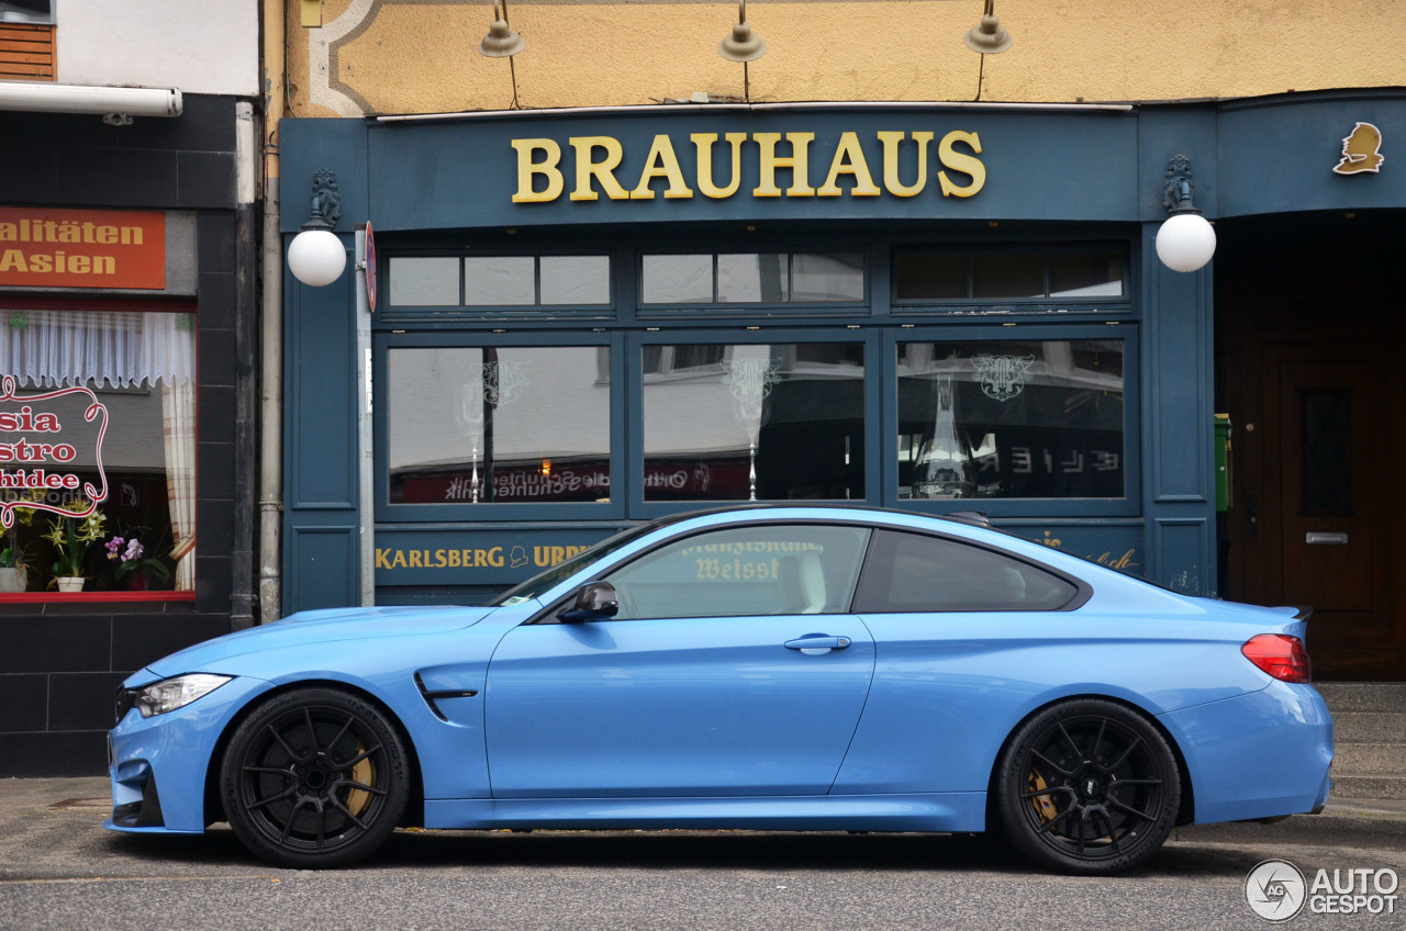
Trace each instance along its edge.
<instances>
[{"instance_id":1,"label":"dark brown wooden door with mail slot in shadowed entrance","mask_svg":"<svg viewBox=\"0 0 1406 931\"><path fill-rule=\"evenodd\" d=\"M1232 598L1312 606L1319 679L1403 678L1393 577L1402 426L1384 347L1279 332L1258 342L1229 530L1246 591ZM1247 385L1249 387L1249 385ZM1257 413L1254 408L1258 408ZM1237 466L1241 463L1237 461Z\"/></svg>"}]
</instances>

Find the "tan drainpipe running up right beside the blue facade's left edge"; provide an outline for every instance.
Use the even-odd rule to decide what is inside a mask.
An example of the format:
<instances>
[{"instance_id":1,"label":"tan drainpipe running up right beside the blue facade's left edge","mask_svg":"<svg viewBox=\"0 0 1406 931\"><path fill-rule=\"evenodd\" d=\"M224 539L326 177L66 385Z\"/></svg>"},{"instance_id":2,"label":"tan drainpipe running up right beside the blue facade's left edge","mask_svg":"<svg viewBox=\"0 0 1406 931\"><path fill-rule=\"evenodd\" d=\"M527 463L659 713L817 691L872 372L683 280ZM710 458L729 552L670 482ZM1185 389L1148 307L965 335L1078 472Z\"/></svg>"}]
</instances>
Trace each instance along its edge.
<instances>
[{"instance_id":1,"label":"tan drainpipe running up right beside the blue facade's left edge","mask_svg":"<svg viewBox=\"0 0 1406 931\"><path fill-rule=\"evenodd\" d=\"M283 616L283 233L278 232L278 121L284 100L283 0L263 0L264 212L263 397L259 423L259 623Z\"/></svg>"}]
</instances>

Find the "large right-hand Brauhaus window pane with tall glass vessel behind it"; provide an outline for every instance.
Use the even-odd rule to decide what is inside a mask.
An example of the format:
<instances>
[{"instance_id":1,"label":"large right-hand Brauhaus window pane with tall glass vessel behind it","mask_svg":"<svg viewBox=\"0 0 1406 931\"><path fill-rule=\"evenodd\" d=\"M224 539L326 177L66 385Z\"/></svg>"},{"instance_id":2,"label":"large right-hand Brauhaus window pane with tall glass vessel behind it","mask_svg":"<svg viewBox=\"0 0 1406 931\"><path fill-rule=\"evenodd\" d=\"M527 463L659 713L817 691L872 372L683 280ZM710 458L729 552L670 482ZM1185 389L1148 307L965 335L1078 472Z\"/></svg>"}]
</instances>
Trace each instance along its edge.
<instances>
[{"instance_id":1,"label":"large right-hand Brauhaus window pane with tall glass vessel behind it","mask_svg":"<svg viewBox=\"0 0 1406 931\"><path fill-rule=\"evenodd\" d=\"M1122 340L898 346L900 498L1122 498Z\"/></svg>"}]
</instances>

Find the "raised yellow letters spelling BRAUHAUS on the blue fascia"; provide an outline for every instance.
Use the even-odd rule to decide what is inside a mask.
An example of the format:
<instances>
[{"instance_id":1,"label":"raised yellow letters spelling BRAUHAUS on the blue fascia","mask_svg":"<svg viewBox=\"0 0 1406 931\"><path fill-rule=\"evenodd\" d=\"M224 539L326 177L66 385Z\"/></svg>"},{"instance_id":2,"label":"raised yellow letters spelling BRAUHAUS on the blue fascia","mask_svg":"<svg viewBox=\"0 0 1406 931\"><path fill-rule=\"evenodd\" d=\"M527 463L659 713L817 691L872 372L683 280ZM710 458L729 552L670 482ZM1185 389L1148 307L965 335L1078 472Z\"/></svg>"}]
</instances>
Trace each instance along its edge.
<instances>
[{"instance_id":1,"label":"raised yellow letters spelling BRAUHAUS on the blue fascia","mask_svg":"<svg viewBox=\"0 0 1406 931\"><path fill-rule=\"evenodd\" d=\"M565 146L555 138L519 138L512 139L512 201L918 197L929 188L972 197L986 186L976 132L953 129L938 139L932 131L891 129L862 141L845 131L824 141L828 155L813 158L815 142L815 132L657 134L643 158L631 158L612 135L572 135ZM744 187L744 177L756 183Z\"/></svg>"}]
</instances>

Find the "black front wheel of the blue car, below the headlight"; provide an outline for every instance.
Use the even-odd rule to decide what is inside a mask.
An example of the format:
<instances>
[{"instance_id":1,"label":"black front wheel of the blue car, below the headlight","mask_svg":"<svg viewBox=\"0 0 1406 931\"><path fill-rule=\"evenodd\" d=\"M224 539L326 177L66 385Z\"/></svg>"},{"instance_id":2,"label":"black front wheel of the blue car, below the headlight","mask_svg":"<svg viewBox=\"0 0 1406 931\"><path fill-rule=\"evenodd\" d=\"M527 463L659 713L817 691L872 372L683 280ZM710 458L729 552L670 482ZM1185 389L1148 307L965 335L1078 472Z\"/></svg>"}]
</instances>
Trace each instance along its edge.
<instances>
[{"instance_id":1,"label":"black front wheel of the blue car, below the headlight","mask_svg":"<svg viewBox=\"0 0 1406 931\"><path fill-rule=\"evenodd\" d=\"M225 816L280 866L340 866L385 842L409 795L404 743L368 702L328 688L278 695L235 731L221 769Z\"/></svg>"}]
</instances>

